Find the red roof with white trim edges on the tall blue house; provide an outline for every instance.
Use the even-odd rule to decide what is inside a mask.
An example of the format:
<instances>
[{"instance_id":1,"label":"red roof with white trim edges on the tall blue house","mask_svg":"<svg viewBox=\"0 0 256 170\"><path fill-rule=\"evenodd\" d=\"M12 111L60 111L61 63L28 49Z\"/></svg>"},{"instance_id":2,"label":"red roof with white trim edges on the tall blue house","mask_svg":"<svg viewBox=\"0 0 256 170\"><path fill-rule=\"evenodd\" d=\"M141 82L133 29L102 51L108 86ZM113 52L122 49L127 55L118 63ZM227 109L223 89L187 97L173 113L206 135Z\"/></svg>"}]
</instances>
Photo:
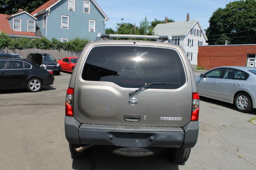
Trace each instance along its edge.
<instances>
[{"instance_id":1,"label":"red roof with white trim edges on the tall blue house","mask_svg":"<svg viewBox=\"0 0 256 170\"><path fill-rule=\"evenodd\" d=\"M31 15L38 16L41 12L48 11L50 8L58 4L61 0L48 0L46 3L42 4L39 8L31 12ZM91 0L91 2L96 6L96 8L100 11L100 13L105 17L105 19L108 21L108 17L106 14L102 11L100 6L95 2L95 0Z\"/></svg>"}]
</instances>

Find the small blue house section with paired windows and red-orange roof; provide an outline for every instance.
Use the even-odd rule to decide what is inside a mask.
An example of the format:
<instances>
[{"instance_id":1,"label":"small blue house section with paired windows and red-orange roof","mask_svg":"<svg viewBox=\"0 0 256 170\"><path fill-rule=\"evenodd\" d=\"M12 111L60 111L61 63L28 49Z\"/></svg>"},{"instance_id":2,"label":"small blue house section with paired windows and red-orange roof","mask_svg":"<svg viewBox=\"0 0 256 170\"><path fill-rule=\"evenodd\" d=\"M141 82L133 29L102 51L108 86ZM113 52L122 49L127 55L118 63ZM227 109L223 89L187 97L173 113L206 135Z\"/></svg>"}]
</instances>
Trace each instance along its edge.
<instances>
[{"instance_id":1,"label":"small blue house section with paired windows and red-orange roof","mask_svg":"<svg viewBox=\"0 0 256 170\"><path fill-rule=\"evenodd\" d=\"M42 34L36 32L36 20L22 9L12 15L0 14L0 34L4 33L11 38L40 38Z\"/></svg>"}]
</instances>

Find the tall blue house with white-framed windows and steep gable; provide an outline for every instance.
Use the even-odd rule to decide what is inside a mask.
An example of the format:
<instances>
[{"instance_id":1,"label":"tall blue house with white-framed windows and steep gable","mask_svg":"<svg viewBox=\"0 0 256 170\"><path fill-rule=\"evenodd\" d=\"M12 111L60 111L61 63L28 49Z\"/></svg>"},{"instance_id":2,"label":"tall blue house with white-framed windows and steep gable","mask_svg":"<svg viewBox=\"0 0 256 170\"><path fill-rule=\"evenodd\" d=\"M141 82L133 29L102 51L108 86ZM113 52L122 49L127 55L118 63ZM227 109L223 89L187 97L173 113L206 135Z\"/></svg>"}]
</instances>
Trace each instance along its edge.
<instances>
[{"instance_id":1,"label":"tall blue house with white-framed windows and steep gable","mask_svg":"<svg viewBox=\"0 0 256 170\"><path fill-rule=\"evenodd\" d=\"M49 0L31 15L48 40L68 42L74 38L95 40L98 32L105 33L108 17L95 0Z\"/></svg>"}]
</instances>

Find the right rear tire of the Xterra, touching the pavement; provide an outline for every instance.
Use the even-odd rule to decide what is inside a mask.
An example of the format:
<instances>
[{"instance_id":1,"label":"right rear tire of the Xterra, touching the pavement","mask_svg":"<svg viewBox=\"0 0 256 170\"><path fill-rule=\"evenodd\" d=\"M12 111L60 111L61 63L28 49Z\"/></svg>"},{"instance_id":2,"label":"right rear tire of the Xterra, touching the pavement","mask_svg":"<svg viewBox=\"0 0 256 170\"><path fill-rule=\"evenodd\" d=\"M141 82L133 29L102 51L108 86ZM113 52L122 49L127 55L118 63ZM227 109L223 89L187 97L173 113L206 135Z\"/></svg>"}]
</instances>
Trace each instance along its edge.
<instances>
[{"instance_id":1,"label":"right rear tire of the Xterra, touching the pavement","mask_svg":"<svg viewBox=\"0 0 256 170\"><path fill-rule=\"evenodd\" d=\"M191 148L169 148L167 149L167 157L175 163L183 163L188 160Z\"/></svg>"}]
</instances>

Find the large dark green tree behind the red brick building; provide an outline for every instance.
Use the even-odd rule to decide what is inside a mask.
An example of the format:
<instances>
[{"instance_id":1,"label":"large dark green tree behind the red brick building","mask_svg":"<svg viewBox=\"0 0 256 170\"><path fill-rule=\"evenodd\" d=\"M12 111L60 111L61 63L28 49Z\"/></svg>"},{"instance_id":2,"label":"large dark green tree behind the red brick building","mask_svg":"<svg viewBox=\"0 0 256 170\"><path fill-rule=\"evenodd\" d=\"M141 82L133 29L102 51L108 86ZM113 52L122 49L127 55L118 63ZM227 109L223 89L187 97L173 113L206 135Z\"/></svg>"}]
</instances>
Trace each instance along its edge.
<instances>
[{"instance_id":1,"label":"large dark green tree behind the red brick building","mask_svg":"<svg viewBox=\"0 0 256 170\"><path fill-rule=\"evenodd\" d=\"M230 2L218 8L206 30L209 45L256 43L256 0Z\"/></svg>"}]
</instances>

